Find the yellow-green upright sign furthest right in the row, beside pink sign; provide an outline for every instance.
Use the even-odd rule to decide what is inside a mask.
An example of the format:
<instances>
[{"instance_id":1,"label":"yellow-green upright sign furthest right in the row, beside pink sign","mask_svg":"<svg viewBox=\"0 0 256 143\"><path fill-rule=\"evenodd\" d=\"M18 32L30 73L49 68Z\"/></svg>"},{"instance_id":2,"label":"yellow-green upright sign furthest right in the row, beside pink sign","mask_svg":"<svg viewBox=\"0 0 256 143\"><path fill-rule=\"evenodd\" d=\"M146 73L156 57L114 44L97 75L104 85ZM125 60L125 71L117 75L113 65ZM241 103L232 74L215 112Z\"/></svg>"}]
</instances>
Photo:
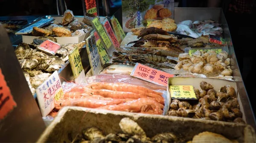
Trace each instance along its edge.
<instances>
[{"instance_id":1,"label":"yellow-green upright sign furthest right in the row, beside pink sign","mask_svg":"<svg viewBox=\"0 0 256 143\"><path fill-rule=\"evenodd\" d=\"M122 30L122 27L115 16L112 16L110 21L111 21L113 30L116 34L116 38L119 41L119 43L121 43L122 40L125 38L125 32Z\"/></svg>"}]
</instances>

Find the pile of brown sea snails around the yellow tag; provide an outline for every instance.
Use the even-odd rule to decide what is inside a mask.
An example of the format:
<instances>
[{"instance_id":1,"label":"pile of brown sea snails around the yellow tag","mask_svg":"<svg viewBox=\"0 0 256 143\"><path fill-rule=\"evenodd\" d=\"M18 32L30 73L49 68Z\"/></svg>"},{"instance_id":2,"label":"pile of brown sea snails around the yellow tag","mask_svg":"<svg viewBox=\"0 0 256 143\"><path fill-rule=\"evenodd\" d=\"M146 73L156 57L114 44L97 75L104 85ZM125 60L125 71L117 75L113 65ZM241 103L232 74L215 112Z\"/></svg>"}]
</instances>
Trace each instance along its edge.
<instances>
[{"instance_id":1,"label":"pile of brown sea snails around the yellow tag","mask_svg":"<svg viewBox=\"0 0 256 143\"><path fill-rule=\"evenodd\" d=\"M233 87L226 85L216 92L212 85L205 81L201 81L200 87L201 90L195 89L199 99L197 104L191 105L187 101L174 99L168 115L244 123Z\"/></svg>"}]
</instances>

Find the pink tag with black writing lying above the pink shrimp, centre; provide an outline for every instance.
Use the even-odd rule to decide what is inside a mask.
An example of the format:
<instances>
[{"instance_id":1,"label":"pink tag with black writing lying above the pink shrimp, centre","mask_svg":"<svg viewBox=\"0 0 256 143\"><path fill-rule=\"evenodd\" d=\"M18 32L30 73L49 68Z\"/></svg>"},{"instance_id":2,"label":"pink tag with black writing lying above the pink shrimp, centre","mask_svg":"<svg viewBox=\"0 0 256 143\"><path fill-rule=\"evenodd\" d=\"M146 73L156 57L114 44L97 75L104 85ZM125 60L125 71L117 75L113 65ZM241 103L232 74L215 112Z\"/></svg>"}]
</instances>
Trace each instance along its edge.
<instances>
[{"instance_id":1,"label":"pink tag with black writing lying above the pink shrimp, centre","mask_svg":"<svg viewBox=\"0 0 256 143\"><path fill-rule=\"evenodd\" d=\"M134 76L154 84L167 86L168 79L174 75L137 63L130 76Z\"/></svg>"}]
</instances>

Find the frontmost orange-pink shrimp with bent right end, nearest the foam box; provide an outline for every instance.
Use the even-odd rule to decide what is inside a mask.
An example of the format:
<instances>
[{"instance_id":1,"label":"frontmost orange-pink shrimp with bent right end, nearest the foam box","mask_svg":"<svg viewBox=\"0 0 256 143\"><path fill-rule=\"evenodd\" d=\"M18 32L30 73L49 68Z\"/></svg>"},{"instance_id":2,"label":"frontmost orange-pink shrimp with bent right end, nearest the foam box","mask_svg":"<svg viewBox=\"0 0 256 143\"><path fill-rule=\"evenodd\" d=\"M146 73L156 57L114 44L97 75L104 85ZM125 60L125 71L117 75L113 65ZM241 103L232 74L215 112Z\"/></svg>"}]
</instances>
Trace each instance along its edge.
<instances>
[{"instance_id":1,"label":"frontmost orange-pink shrimp with bent right end, nearest the foam box","mask_svg":"<svg viewBox=\"0 0 256 143\"><path fill-rule=\"evenodd\" d=\"M116 111L128 111L128 112L140 112L141 108L146 105L151 105L152 109L154 109L155 114L163 113L163 105L150 98L140 98L134 101L130 101L127 103L122 103L118 105L107 105L104 107L99 107L98 109L108 109L108 110L116 110Z\"/></svg>"}]
</instances>

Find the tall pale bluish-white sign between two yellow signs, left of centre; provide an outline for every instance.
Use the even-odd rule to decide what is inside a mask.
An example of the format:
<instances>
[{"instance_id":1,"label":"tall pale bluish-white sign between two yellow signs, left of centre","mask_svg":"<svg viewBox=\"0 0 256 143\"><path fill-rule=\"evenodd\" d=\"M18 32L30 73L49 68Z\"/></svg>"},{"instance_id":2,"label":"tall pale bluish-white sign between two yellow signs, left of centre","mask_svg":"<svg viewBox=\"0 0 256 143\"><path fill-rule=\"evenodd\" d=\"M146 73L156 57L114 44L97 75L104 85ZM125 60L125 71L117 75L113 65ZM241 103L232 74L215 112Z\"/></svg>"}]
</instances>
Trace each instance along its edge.
<instances>
[{"instance_id":1,"label":"tall pale bluish-white sign between two yellow signs, left of centre","mask_svg":"<svg viewBox=\"0 0 256 143\"><path fill-rule=\"evenodd\" d=\"M102 65L100 62L99 51L95 44L93 44L92 36L90 35L86 39L86 50L89 57L90 67L93 75L98 75L99 72L102 70Z\"/></svg>"}]
</instances>

